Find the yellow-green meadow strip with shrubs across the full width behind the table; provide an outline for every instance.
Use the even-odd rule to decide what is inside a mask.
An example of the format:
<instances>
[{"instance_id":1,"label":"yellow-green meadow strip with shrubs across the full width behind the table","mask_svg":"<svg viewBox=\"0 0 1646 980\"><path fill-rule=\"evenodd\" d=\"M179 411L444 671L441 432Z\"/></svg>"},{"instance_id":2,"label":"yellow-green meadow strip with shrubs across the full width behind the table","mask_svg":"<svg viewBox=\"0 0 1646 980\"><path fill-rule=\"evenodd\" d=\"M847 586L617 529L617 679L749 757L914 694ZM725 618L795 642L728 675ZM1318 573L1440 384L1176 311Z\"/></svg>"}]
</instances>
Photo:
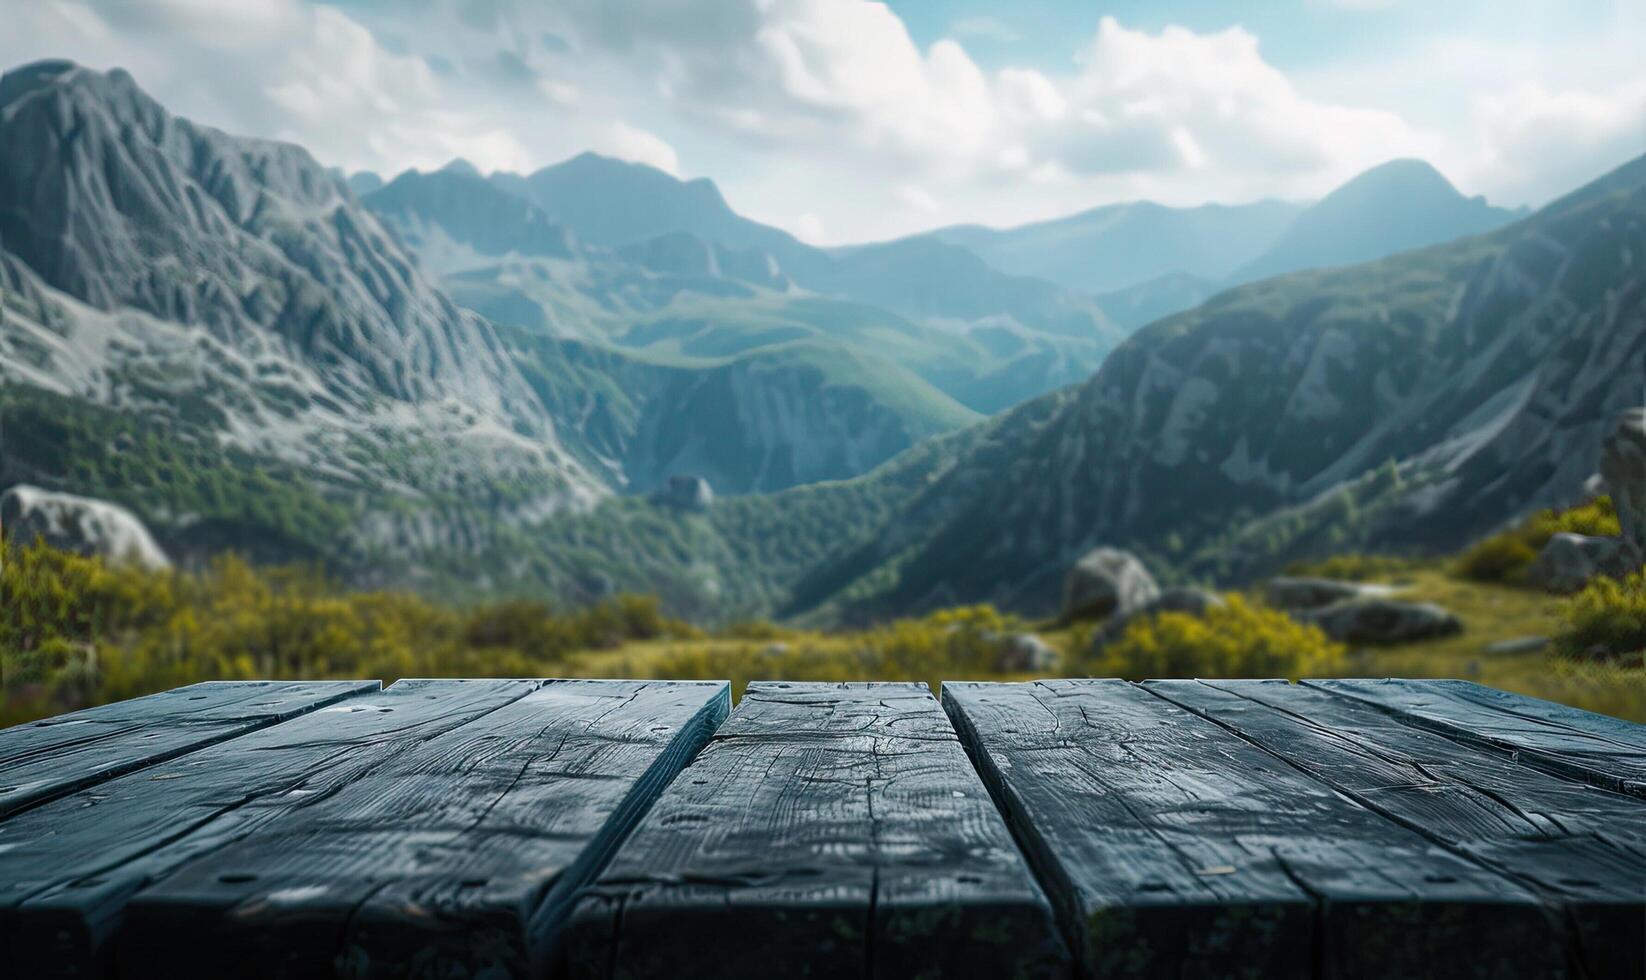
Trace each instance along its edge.
<instances>
[{"instance_id":1,"label":"yellow-green meadow strip with shrubs across the full width behind the table","mask_svg":"<svg viewBox=\"0 0 1646 980\"><path fill-rule=\"evenodd\" d=\"M410 593L346 591L301 567L219 558L199 572L142 572L44 545L0 570L0 723L198 680L377 677L634 677L749 680L1025 680L1070 677L1462 677L1646 721L1646 580L1597 581L1574 598L1481 576L1458 560L1335 558L1300 572L1396 585L1465 624L1460 636L1348 649L1228 593L1207 619L1165 613L1091 652L1091 623L1025 623L988 606L871 629L716 631L658 603L617 596L578 609L540 601L448 606ZM1488 578L1488 580L1483 580ZM1052 670L1011 669L1004 637L1032 632ZM1493 652L1547 637L1542 649ZM1600 646L1597 646L1597 642ZM1598 656L1602 646L1611 652ZM1582 651L1588 651L1585 656Z\"/></svg>"}]
</instances>

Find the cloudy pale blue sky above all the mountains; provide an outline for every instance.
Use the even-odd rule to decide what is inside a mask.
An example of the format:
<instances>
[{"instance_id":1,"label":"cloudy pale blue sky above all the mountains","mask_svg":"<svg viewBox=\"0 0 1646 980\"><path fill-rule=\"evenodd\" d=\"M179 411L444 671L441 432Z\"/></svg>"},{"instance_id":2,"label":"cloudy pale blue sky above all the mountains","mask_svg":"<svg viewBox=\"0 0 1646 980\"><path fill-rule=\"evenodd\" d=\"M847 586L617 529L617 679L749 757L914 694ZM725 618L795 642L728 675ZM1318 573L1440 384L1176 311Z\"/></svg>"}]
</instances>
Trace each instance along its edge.
<instances>
[{"instance_id":1,"label":"cloudy pale blue sky above all the mountains","mask_svg":"<svg viewBox=\"0 0 1646 980\"><path fill-rule=\"evenodd\" d=\"M594 150L816 244L1314 199L1419 156L1542 204L1646 153L1641 0L0 0L0 66L392 176Z\"/></svg>"}]
</instances>

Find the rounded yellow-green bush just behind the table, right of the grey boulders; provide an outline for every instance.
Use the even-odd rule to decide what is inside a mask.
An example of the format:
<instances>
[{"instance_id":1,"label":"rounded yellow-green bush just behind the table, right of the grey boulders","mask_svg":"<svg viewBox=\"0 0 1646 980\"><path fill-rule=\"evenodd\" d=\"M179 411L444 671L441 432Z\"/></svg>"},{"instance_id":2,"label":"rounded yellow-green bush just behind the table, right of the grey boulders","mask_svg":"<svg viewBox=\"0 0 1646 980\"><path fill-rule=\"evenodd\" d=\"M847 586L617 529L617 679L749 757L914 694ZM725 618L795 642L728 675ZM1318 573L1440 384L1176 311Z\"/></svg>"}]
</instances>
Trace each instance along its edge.
<instances>
[{"instance_id":1,"label":"rounded yellow-green bush just behind the table, right of the grey boulders","mask_svg":"<svg viewBox=\"0 0 1646 980\"><path fill-rule=\"evenodd\" d=\"M1343 646L1286 613L1228 595L1205 616L1139 616L1088 664L1101 677L1307 677L1332 672Z\"/></svg>"}]
</instances>

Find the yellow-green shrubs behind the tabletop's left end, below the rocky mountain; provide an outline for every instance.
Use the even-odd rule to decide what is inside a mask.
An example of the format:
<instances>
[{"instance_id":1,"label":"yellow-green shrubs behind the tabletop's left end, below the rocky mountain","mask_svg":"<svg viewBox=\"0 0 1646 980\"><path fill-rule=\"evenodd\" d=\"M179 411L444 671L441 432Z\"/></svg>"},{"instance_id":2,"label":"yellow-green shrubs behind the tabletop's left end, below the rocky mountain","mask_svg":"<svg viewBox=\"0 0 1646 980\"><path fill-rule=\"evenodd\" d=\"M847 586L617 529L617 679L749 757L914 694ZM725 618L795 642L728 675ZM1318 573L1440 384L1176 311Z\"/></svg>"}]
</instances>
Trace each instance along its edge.
<instances>
[{"instance_id":1,"label":"yellow-green shrubs behind the tabletop's left end, below the rocky mountain","mask_svg":"<svg viewBox=\"0 0 1646 980\"><path fill-rule=\"evenodd\" d=\"M38 542L5 553L0 600L0 723L198 680L545 677L576 651L701 636L649 596L453 608L309 567L143 572Z\"/></svg>"}]
</instances>

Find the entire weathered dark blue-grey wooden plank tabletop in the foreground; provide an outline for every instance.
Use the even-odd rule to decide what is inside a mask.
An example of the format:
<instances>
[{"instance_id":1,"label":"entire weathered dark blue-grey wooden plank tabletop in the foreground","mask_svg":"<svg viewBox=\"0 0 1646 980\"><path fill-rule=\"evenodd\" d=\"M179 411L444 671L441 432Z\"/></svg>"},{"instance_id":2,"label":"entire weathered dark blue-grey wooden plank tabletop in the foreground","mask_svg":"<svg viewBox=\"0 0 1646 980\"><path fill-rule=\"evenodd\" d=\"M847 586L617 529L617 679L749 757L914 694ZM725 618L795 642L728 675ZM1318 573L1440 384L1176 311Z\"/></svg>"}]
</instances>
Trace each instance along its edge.
<instances>
[{"instance_id":1,"label":"entire weathered dark blue-grey wooden plank tabletop in the foreground","mask_svg":"<svg viewBox=\"0 0 1646 980\"><path fill-rule=\"evenodd\" d=\"M1458 680L212 682L0 730L0 975L1646 977L1646 726Z\"/></svg>"}]
</instances>

